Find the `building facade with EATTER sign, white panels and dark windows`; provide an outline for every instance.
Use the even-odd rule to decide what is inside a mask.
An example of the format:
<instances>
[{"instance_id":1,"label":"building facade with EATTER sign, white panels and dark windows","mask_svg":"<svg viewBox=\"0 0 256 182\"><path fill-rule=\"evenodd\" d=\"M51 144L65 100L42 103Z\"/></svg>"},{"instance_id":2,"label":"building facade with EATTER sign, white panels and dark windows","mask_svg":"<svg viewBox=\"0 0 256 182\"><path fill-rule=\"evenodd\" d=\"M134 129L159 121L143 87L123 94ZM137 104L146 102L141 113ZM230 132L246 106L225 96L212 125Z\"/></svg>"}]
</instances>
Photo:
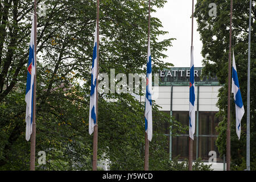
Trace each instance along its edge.
<instances>
[{"instance_id":1,"label":"building facade with EATTER sign, white panels and dark windows","mask_svg":"<svg viewBox=\"0 0 256 182\"><path fill-rule=\"evenodd\" d=\"M164 113L170 114L183 125L189 120L189 69L170 68L159 72L158 98L154 99ZM201 158L208 162L216 154L217 163L222 163L216 147L218 133L216 126L220 121L217 117L218 89L221 88L217 77L201 77L202 68L195 68L196 95L196 131L193 140L193 160ZM153 86L155 90L155 86ZM170 126L165 126L167 129ZM170 159L179 155L179 159L188 159L188 133L173 136L166 130L169 138ZM215 153L214 153L215 152Z\"/></svg>"}]
</instances>

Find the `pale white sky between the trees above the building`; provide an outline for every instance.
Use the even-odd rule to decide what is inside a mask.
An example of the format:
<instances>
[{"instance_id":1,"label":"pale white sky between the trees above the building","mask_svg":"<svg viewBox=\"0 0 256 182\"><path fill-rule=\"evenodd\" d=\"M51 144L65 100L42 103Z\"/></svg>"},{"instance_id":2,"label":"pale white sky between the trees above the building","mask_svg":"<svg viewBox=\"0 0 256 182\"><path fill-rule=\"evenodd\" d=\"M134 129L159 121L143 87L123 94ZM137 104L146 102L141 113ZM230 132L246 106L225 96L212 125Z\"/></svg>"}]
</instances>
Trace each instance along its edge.
<instances>
[{"instance_id":1,"label":"pale white sky between the trees above the building","mask_svg":"<svg viewBox=\"0 0 256 182\"><path fill-rule=\"evenodd\" d=\"M196 0L195 0L196 4ZM195 7L194 7L195 11ZM168 57L164 62L172 63L175 67L190 67L191 50L191 26L192 26L192 1L191 0L167 0L162 9L156 9L151 16L159 18L163 24L161 30L169 34L159 37L159 41L168 38L176 38L172 41L172 47L164 52ZM197 30L197 22L194 18L193 46L195 67L202 67L201 49L203 44Z\"/></svg>"}]
</instances>

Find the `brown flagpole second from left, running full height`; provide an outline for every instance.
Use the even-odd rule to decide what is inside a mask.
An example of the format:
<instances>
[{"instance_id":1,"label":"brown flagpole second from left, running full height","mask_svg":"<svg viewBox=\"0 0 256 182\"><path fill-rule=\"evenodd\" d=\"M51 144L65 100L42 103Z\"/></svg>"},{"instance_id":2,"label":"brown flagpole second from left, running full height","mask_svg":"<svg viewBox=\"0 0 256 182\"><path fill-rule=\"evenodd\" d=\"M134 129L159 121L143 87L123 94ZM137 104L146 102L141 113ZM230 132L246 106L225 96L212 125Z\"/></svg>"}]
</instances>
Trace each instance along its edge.
<instances>
[{"instance_id":1,"label":"brown flagpole second from left, running full height","mask_svg":"<svg viewBox=\"0 0 256 182\"><path fill-rule=\"evenodd\" d=\"M100 0L97 0L97 83L96 83L96 125L93 131L93 171L97 171L97 150L98 150L98 65L99 65L99 20L100 20Z\"/></svg>"}]
</instances>

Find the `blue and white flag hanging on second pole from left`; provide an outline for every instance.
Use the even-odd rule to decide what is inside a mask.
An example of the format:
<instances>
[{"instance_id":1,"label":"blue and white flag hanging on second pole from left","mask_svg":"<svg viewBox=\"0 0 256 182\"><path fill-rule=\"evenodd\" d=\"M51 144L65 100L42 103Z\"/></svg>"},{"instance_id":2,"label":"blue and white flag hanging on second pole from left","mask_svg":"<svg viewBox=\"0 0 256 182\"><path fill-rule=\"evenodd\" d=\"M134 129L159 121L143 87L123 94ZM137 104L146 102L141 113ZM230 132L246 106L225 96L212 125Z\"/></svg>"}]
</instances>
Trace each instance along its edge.
<instances>
[{"instance_id":1,"label":"blue and white flag hanging on second pole from left","mask_svg":"<svg viewBox=\"0 0 256 182\"><path fill-rule=\"evenodd\" d=\"M89 110L89 134L91 135L96 125L96 84L97 84L97 24L95 28L93 44L92 75L90 82L90 110Z\"/></svg>"}]
</instances>

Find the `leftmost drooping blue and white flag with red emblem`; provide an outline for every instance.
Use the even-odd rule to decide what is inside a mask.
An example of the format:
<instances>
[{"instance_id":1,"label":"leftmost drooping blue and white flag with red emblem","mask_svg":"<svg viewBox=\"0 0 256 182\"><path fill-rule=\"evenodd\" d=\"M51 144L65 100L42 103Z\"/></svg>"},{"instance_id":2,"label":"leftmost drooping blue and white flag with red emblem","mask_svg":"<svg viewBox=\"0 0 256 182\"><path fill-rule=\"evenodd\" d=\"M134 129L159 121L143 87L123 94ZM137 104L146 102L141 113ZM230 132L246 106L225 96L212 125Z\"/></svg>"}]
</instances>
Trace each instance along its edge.
<instances>
[{"instance_id":1,"label":"leftmost drooping blue and white flag with red emblem","mask_svg":"<svg viewBox=\"0 0 256 182\"><path fill-rule=\"evenodd\" d=\"M34 99L34 76L35 76L35 39L34 39L34 18L32 20L30 50L27 66L27 86L26 86L26 140L30 140L32 134L33 119L33 99Z\"/></svg>"}]
</instances>

